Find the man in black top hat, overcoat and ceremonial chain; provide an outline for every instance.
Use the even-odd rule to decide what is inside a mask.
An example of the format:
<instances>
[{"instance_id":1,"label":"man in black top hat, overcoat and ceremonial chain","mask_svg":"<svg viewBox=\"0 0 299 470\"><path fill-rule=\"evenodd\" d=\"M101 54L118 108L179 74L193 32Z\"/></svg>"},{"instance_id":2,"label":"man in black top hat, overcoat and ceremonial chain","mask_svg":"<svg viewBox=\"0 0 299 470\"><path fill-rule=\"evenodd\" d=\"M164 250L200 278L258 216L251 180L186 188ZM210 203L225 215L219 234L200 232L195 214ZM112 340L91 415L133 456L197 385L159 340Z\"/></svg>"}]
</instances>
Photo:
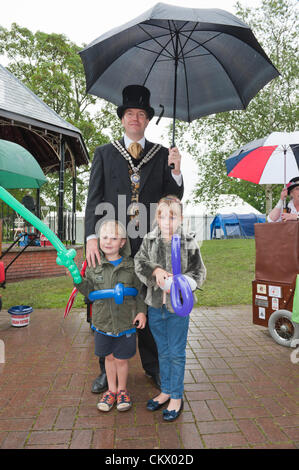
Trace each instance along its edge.
<instances>
[{"instance_id":1,"label":"man in black top hat, overcoat and ceremonial chain","mask_svg":"<svg viewBox=\"0 0 299 470\"><path fill-rule=\"evenodd\" d=\"M181 199L184 192L178 149L166 149L144 137L155 114L150 106L149 90L141 85L129 85L122 95L123 104L117 108L117 115L125 130L124 137L95 150L90 173L85 237L86 259L88 265L94 267L96 260L101 262L95 234L101 217L106 215L107 204L113 207L116 219L123 221L125 212L124 222L132 256L135 256L143 236L152 229L150 205L167 194ZM140 209L141 205L145 211ZM148 325L138 331L138 346L146 374L159 386L158 354ZM94 393L107 388L104 358L100 358L100 367L101 374L92 385Z\"/></svg>"}]
</instances>

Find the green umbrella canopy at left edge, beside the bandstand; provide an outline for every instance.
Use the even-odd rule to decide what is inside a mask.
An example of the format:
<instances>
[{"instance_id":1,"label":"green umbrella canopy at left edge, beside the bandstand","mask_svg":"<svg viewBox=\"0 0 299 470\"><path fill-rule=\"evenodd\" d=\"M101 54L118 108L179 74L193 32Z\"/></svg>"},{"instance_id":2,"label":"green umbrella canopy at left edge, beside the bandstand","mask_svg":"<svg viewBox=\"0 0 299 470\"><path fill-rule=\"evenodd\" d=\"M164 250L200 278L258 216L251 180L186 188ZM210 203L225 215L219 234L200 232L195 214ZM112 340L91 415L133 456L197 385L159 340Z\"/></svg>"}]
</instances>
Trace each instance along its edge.
<instances>
[{"instance_id":1,"label":"green umbrella canopy at left edge, beside the bandstand","mask_svg":"<svg viewBox=\"0 0 299 470\"><path fill-rule=\"evenodd\" d=\"M0 185L3 188L40 188L46 182L41 167L28 150L0 139Z\"/></svg>"}]
</instances>

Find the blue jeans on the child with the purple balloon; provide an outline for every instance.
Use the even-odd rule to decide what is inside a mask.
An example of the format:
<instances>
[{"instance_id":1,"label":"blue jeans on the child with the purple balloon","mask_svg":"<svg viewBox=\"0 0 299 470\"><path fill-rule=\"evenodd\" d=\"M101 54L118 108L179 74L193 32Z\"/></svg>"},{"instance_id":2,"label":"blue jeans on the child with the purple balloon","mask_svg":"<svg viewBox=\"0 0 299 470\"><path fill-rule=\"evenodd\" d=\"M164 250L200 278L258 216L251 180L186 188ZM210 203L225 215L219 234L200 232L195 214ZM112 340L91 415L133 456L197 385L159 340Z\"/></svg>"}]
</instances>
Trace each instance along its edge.
<instances>
[{"instance_id":1,"label":"blue jeans on the child with the purple balloon","mask_svg":"<svg viewBox=\"0 0 299 470\"><path fill-rule=\"evenodd\" d=\"M180 317L165 305L148 307L148 322L158 349L161 392L183 398L189 315Z\"/></svg>"}]
</instances>

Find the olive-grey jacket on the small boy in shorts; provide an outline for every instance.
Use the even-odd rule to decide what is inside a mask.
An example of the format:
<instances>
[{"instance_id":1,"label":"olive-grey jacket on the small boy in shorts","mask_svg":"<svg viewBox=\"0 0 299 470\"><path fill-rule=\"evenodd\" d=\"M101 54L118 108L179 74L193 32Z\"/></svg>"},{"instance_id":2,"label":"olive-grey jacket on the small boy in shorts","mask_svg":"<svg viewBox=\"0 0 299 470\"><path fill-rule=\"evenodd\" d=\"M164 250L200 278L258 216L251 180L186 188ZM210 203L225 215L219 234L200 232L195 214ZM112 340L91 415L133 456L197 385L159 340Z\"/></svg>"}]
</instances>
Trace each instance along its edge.
<instances>
[{"instance_id":1,"label":"olive-grey jacket on the small boy in shorts","mask_svg":"<svg viewBox=\"0 0 299 470\"><path fill-rule=\"evenodd\" d=\"M101 264L95 268L87 267L85 277L80 284L75 284L77 289L86 297L94 290L113 289L118 282L125 287L135 287L141 292L142 284L134 271L133 258L130 253L130 243L127 240L124 248L120 250L123 256L118 266L113 266L106 260L104 253L100 250ZM116 304L114 299L98 299L92 304L92 324L105 333L118 334L133 328L133 320L137 313L146 314L147 307L142 295L137 297L124 297L122 304Z\"/></svg>"}]
</instances>

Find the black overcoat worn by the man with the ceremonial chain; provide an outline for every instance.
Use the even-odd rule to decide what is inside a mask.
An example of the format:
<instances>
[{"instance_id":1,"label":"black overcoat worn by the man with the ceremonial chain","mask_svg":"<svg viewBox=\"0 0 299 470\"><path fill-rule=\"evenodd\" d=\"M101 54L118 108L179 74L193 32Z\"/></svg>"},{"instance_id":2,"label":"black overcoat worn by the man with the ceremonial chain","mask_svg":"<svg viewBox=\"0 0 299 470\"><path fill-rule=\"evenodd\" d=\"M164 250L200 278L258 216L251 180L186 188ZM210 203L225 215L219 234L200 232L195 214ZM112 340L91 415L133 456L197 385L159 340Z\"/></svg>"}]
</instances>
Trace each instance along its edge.
<instances>
[{"instance_id":1,"label":"black overcoat worn by the man with the ceremonial chain","mask_svg":"<svg viewBox=\"0 0 299 470\"><path fill-rule=\"evenodd\" d=\"M124 146L123 139L120 143ZM146 140L142 155L146 155L153 145L152 142ZM126 223L134 256L145 233L143 233L144 224L141 227L142 230L136 232L136 237L135 235L132 237L132 231L129 230L130 218L127 208L131 204L132 193L128 170L129 163L112 144L96 148L85 210L85 237L96 233L97 222L103 216L110 218L110 214L104 212L106 204L101 204L110 203L114 208L115 217ZM171 169L168 166L168 149L161 147L156 155L140 169L139 202L143 203L147 210L146 233L152 230L153 207L151 212L150 203L157 203L167 194L174 194L181 199L183 193L183 184L179 186L171 175Z\"/></svg>"}]
</instances>

